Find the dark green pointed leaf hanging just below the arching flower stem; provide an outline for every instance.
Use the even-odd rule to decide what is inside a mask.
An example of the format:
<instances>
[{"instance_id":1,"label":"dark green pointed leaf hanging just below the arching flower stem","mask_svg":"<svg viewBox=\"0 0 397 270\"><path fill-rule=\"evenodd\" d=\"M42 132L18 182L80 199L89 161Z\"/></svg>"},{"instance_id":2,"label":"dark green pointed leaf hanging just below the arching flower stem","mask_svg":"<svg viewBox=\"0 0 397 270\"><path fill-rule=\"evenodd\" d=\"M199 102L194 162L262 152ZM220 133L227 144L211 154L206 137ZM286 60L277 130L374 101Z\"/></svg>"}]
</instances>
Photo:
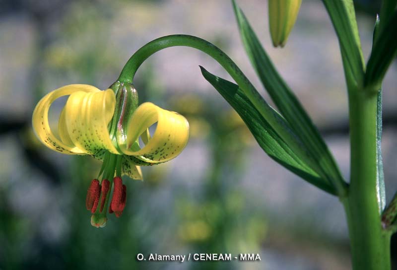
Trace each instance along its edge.
<instances>
[{"instance_id":1,"label":"dark green pointed leaf hanging just below the arching flower stem","mask_svg":"<svg viewBox=\"0 0 397 270\"><path fill-rule=\"evenodd\" d=\"M330 183L320 178L274 131L237 84L219 78L201 68L204 78L236 110L259 145L276 162L320 189L335 194ZM274 111L277 113L276 111Z\"/></svg>"}]
</instances>

